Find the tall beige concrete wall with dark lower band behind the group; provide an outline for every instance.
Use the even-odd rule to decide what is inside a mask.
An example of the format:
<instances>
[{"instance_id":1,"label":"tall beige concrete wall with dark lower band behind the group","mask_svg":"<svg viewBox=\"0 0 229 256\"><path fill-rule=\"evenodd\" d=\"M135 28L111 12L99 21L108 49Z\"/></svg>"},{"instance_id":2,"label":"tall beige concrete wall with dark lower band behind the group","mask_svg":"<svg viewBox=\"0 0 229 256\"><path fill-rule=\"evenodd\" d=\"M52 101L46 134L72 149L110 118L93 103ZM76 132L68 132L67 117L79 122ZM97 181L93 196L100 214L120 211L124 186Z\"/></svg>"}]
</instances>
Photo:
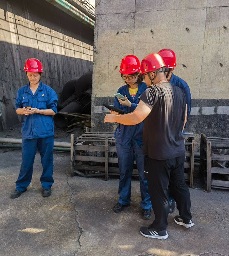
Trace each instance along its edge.
<instances>
[{"instance_id":1,"label":"tall beige concrete wall with dark lower band behind the group","mask_svg":"<svg viewBox=\"0 0 229 256\"><path fill-rule=\"evenodd\" d=\"M123 85L121 59L170 48L174 74L192 95L187 132L229 136L229 0L97 0L95 9L92 129L103 124L114 93ZM103 112L103 114L101 114Z\"/></svg>"}]
</instances>

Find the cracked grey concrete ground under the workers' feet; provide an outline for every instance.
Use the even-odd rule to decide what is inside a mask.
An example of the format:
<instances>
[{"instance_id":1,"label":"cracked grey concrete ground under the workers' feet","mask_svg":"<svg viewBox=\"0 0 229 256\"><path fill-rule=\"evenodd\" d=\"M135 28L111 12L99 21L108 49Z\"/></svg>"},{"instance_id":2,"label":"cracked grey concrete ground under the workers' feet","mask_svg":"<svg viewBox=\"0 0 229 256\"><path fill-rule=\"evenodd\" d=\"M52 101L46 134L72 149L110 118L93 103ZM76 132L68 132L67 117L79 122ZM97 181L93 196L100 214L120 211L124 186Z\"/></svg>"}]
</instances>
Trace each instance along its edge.
<instances>
[{"instance_id":1,"label":"cracked grey concrete ground under the workers' feet","mask_svg":"<svg viewBox=\"0 0 229 256\"><path fill-rule=\"evenodd\" d=\"M189 189L195 226L185 229L168 217L167 240L139 233L151 220L141 218L139 181L133 179L131 204L112 208L118 177L69 177L68 153L54 153L52 195L42 197L39 153L27 192L11 199L21 164L21 150L0 150L1 256L218 256L229 255L229 191ZM153 220L153 216L152 216Z\"/></svg>"}]
</instances>

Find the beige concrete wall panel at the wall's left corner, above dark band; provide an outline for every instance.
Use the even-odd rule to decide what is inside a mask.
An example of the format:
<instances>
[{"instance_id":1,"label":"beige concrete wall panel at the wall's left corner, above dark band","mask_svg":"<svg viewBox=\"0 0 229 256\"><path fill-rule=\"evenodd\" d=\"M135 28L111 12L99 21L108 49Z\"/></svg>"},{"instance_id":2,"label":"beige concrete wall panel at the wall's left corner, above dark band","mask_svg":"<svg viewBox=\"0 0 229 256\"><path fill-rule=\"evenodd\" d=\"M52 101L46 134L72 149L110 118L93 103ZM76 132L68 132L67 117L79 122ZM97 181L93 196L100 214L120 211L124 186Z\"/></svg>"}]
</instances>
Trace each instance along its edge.
<instances>
[{"instance_id":1,"label":"beige concrete wall panel at the wall's left corner, above dark band","mask_svg":"<svg viewBox=\"0 0 229 256\"><path fill-rule=\"evenodd\" d=\"M95 35L93 95L111 96L123 85L118 72L123 57L133 54L132 14L99 15ZM119 26L122 20L125 26Z\"/></svg>"}]
</instances>

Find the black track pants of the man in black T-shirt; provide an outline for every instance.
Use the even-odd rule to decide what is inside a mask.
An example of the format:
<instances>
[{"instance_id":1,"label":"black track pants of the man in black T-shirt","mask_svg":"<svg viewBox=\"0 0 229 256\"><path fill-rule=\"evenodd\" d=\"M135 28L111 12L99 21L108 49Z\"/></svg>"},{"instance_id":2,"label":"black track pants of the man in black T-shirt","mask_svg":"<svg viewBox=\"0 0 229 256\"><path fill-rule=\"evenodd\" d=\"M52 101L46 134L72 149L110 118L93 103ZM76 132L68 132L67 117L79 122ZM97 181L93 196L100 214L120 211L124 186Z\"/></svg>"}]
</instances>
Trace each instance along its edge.
<instances>
[{"instance_id":1,"label":"black track pants of the man in black T-shirt","mask_svg":"<svg viewBox=\"0 0 229 256\"><path fill-rule=\"evenodd\" d=\"M169 187L179 215L188 220L192 217L190 193L184 178L184 160L185 155L167 160L145 156L145 176L155 214L153 225L160 231L165 230L168 225Z\"/></svg>"}]
</instances>

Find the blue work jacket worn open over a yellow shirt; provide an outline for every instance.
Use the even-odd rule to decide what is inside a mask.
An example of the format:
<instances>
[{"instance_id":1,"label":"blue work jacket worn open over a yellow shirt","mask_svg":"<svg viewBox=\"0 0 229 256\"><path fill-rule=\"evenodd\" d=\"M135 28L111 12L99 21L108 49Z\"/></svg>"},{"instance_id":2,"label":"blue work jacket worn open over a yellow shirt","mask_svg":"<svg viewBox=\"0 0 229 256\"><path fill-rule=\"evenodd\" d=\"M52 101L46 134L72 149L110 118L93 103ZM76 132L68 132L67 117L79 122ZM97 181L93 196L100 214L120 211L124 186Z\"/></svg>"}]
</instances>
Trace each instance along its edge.
<instances>
[{"instance_id":1,"label":"blue work jacket worn open over a yellow shirt","mask_svg":"<svg viewBox=\"0 0 229 256\"><path fill-rule=\"evenodd\" d=\"M121 105L115 97L114 100L114 106L118 107L124 111L127 111L128 113L134 112L135 108L138 105L138 97L147 89L147 85L144 82L139 83L138 85L138 91L134 97L134 100L132 99L130 93L129 93L129 86L128 84L120 87L117 91L117 93L121 93L123 96L127 96L128 100L131 102L131 107ZM131 147L131 141L134 140L138 146L142 146L142 133L143 133L143 122L135 125L123 125L118 124L118 127L116 128L114 135L116 140L116 146L117 147L123 147L123 148L129 148Z\"/></svg>"}]
</instances>

